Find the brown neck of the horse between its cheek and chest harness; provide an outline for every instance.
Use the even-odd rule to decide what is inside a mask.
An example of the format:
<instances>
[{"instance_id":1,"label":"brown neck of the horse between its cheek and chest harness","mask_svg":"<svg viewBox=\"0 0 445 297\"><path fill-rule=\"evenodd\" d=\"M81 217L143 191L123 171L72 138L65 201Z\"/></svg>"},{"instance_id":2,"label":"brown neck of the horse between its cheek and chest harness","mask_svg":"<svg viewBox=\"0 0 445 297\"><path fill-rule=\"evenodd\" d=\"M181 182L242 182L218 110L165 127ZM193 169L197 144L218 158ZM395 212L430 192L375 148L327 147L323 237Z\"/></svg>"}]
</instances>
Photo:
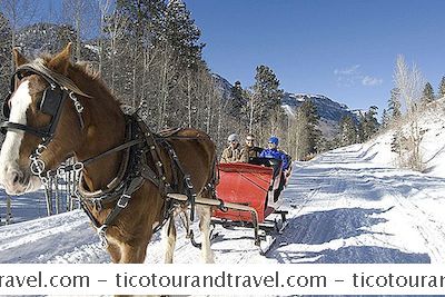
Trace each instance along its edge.
<instances>
[{"instance_id":1,"label":"brown neck of the horse between its cheek and chest harness","mask_svg":"<svg viewBox=\"0 0 445 297\"><path fill-rule=\"evenodd\" d=\"M125 116L116 106L92 98L86 108L89 110L86 119L88 126L85 128L85 145L76 152L79 160L98 156L123 143L126 133ZM83 169L83 179L89 190L103 189L116 177L121 161L122 154L115 152L88 165Z\"/></svg>"}]
</instances>

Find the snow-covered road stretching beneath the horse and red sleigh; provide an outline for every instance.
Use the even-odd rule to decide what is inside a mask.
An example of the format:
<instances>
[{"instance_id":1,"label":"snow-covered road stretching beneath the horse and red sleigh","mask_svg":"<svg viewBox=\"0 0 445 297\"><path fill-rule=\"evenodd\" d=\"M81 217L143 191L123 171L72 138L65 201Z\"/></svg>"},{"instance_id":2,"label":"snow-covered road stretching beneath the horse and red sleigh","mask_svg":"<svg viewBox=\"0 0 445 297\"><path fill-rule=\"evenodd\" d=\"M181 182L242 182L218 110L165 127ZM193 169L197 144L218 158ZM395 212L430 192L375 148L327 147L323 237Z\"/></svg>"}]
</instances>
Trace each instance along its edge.
<instances>
[{"instance_id":1,"label":"snow-covered road stretching beneath the horse and red sleigh","mask_svg":"<svg viewBox=\"0 0 445 297\"><path fill-rule=\"evenodd\" d=\"M378 143L376 143L378 145ZM218 226L216 261L444 263L445 179L374 162L373 146L355 145L296 164L283 197L289 225L266 257L251 230ZM162 261L159 235L147 263ZM175 261L199 250L179 231ZM79 210L0 227L0 263L109 263Z\"/></svg>"}]
</instances>

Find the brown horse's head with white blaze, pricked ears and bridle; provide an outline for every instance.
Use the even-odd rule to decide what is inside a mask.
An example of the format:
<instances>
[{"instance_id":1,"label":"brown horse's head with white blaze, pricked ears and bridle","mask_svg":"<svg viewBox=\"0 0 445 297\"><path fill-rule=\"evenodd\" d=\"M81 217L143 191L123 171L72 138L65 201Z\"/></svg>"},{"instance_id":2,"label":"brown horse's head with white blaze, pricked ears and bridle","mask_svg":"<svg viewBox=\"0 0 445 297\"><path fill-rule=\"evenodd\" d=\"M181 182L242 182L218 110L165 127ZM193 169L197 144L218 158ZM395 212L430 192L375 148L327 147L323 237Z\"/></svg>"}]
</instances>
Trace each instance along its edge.
<instances>
[{"instance_id":1,"label":"brown horse's head with white blaze, pricked ears and bridle","mask_svg":"<svg viewBox=\"0 0 445 297\"><path fill-rule=\"evenodd\" d=\"M66 99L67 90L41 73L28 71L28 60L16 49L13 57L18 71L3 105L4 117L9 120L2 123L6 138L0 151L0 182L8 194L19 195L41 186L41 179L31 170L31 159L36 159L39 145L47 147L38 156L44 164L44 174L72 154L80 129L76 108ZM67 76L69 58L70 44L40 61L51 73Z\"/></svg>"}]
</instances>

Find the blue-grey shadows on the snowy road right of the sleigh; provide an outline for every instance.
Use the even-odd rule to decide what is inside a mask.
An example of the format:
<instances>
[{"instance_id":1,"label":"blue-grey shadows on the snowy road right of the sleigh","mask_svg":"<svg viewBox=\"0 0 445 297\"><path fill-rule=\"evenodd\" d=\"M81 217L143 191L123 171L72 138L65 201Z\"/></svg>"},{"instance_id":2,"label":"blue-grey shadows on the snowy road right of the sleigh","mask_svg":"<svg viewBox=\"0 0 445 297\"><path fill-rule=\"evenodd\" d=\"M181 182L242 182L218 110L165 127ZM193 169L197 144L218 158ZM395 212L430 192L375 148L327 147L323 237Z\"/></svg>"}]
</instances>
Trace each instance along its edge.
<instances>
[{"instance_id":1,"label":"blue-grey shadows on the snowy road right of the sleigh","mask_svg":"<svg viewBox=\"0 0 445 297\"><path fill-rule=\"evenodd\" d=\"M291 248L293 250L287 250L286 248L286 246L293 244L323 245L335 239L347 239L366 234L382 235L369 229L372 226L386 221L386 219L377 217L385 211L387 210L340 208L290 218L288 228L277 238L277 242L267 257L276 258L278 263L431 263L427 254L405 253L377 246L348 246L338 249L328 248L322 251L298 250L295 247ZM388 234L383 235L390 236Z\"/></svg>"}]
</instances>

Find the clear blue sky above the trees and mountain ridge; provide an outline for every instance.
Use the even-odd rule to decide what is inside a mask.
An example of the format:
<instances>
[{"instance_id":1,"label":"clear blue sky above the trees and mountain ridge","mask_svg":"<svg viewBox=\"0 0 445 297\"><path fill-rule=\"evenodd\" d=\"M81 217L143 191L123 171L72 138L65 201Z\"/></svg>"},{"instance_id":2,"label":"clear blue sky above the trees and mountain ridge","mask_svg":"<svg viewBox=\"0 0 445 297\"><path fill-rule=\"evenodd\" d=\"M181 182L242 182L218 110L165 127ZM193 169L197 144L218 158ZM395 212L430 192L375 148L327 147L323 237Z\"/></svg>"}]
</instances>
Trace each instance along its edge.
<instances>
[{"instance_id":1,"label":"clear blue sky above the trees and mountain ridge","mask_svg":"<svg viewBox=\"0 0 445 297\"><path fill-rule=\"evenodd\" d=\"M434 90L445 75L445 1L186 0L210 69L254 83L269 66L289 92L323 93L353 109L387 107L397 55Z\"/></svg>"}]
</instances>

